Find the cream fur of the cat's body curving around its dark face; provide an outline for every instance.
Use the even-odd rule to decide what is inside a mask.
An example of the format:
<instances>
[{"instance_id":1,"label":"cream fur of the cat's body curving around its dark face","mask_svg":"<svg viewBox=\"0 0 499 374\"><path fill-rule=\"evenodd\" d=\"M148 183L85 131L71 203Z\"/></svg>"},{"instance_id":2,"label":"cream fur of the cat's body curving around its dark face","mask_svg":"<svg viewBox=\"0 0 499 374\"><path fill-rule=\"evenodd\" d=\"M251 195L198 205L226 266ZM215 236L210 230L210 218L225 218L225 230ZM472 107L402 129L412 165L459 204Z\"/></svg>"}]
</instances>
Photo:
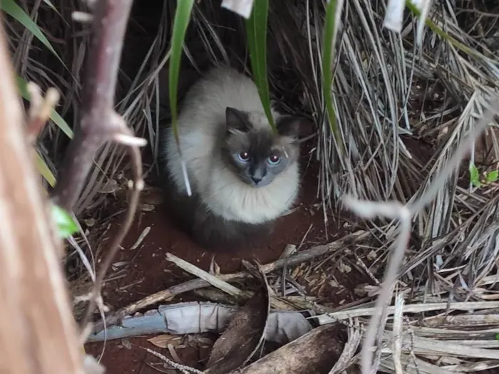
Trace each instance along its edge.
<instances>
[{"instance_id":1,"label":"cream fur of the cat's body curving around its dark face","mask_svg":"<svg viewBox=\"0 0 499 374\"><path fill-rule=\"evenodd\" d=\"M222 162L215 148L225 128L225 108L257 112L254 125L269 128L254 82L232 68L214 68L197 81L186 95L178 116L182 156L190 185L202 202L226 219L257 224L282 215L297 199L298 162L289 165L265 187L242 182ZM272 109L274 118L279 116ZM167 167L178 189L187 194L177 145L170 128L167 137Z\"/></svg>"}]
</instances>

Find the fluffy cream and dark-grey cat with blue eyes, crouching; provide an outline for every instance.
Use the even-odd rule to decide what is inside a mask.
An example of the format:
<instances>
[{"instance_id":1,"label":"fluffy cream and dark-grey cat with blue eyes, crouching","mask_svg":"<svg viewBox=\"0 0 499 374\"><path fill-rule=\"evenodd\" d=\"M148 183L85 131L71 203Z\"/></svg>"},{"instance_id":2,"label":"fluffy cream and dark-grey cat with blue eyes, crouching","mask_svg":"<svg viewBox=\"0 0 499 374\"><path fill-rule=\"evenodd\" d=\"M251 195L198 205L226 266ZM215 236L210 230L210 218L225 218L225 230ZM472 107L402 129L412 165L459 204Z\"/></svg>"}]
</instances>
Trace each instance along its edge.
<instances>
[{"instance_id":1,"label":"fluffy cream and dark-grey cat with blue eyes, crouching","mask_svg":"<svg viewBox=\"0 0 499 374\"><path fill-rule=\"evenodd\" d=\"M178 136L165 130L167 204L180 227L205 249L263 243L299 193L299 117L271 109L272 131L257 86L233 68L212 68L185 95Z\"/></svg>"}]
</instances>

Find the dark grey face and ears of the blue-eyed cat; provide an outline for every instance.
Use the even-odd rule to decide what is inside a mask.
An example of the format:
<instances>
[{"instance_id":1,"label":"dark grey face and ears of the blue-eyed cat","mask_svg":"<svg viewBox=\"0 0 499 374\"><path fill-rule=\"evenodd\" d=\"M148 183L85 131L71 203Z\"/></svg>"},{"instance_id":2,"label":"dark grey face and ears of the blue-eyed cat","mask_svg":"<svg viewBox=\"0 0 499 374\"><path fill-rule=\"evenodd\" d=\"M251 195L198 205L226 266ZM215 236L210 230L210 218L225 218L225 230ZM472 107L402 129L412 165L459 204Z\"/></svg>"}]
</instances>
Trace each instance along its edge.
<instances>
[{"instance_id":1,"label":"dark grey face and ears of the blue-eyed cat","mask_svg":"<svg viewBox=\"0 0 499 374\"><path fill-rule=\"evenodd\" d=\"M227 167L253 187L265 187L297 162L299 156L299 118L282 115L276 120L277 133L267 126L254 126L255 120L267 123L264 115L234 108L226 110L227 133L222 142L222 157Z\"/></svg>"}]
</instances>

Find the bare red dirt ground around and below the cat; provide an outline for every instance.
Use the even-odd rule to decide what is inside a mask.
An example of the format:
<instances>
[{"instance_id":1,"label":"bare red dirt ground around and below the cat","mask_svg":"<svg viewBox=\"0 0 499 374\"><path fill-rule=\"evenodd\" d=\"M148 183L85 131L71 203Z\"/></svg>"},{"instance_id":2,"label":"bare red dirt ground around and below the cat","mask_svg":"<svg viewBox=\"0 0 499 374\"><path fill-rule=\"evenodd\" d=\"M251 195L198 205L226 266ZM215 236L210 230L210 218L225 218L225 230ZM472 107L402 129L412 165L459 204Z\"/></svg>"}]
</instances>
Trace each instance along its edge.
<instances>
[{"instance_id":1,"label":"bare red dirt ground around and below the cat","mask_svg":"<svg viewBox=\"0 0 499 374\"><path fill-rule=\"evenodd\" d=\"M302 165L307 165L307 161L308 157L304 155ZM209 269L211 258L214 255L215 261L220 266L220 271L229 273L241 269L241 259L256 258L262 264L276 260L287 244L299 246L307 232L304 248L309 248L314 244L323 244L326 241L334 241L334 239L345 234L343 223L335 222L334 219L329 217L326 236L324 219L322 211L318 210L316 194L317 167L310 167L305 173L297 210L280 219L274 235L266 246L252 251L245 251L244 253L212 254L201 249L193 244L185 234L178 232L173 227L172 222L160 205L155 206L153 212L138 212L135 224L122 244L124 249L120 251L114 260L115 263L129 261L128 274L121 279L108 281L105 284L103 296L106 303L112 309L127 306L129 303L166 289L168 286L180 284L182 281L192 278L192 276L183 273L178 268L175 269L175 265L166 261L165 253L167 251L205 270ZM130 247L133 246L146 227L150 227L147 237L137 249L130 250ZM112 232L113 230L110 230L106 237L112 237ZM113 271L110 271L108 276L112 277L112 273ZM365 283L366 280L359 279L356 271L351 271L348 275L336 273L335 269L331 269L331 277L342 286L341 290L339 291L334 286L331 287L330 283L326 282L328 285L325 288L321 287L317 291L317 296L321 299L324 298L324 301L327 301L330 305L337 306L339 306L340 300L349 303L359 298L354 296L353 290L357 284ZM185 299L183 298L183 300ZM171 302L178 303L180 301L182 301L182 297L175 298ZM152 368L148 364L151 362L158 363L160 360L139 348L139 346L154 349L169 358L171 356L167 349L153 346L152 343L147 341L148 338L150 337L130 338L125 342L117 340L106 343L102 363L106 366L107 373L158 373L158 369ZM128 342L131 343L131 346ZM86 350L98 357L101 354L102 343L88 344ZM207 354L209 354L207 349L182 348L176 351L183 363L199 369L202 369L200 361L205 360ZM168 372L168 369L165 368L160 368L160 370L166 373L175 373L175 371Z\"/></svg>"}]
</instances>

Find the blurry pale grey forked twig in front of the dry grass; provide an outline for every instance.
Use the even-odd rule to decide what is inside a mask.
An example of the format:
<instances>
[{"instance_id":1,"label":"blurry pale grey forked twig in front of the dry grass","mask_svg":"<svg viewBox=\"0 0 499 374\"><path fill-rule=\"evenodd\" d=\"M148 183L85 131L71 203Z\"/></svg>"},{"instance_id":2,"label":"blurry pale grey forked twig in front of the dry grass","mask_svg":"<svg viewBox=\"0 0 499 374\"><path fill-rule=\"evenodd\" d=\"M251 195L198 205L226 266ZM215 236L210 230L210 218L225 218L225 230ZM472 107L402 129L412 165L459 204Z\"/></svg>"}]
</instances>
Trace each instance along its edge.
<instances>
[{"instance_id":1,"label":"blurry pale grey forked twig in front of the dry grass","mask_svg":"<svg viewBox=\"0 0 499 374\"><path fill-rule=\"evenodd\" d=\"M398 234L393 256L389 261L388 269L386 270L385 279L381 286L381 291L379 297L376 300L376 310L377 313L369 321L369 327L366 332L366 338L364 340L364 346L362 347L361 354L361 368L362 373L374 373L377 366L379 365L379 360L381 359L381 348L376 350L376 362L372 363L372 355L374 348L374 342L376 341L376 336L380 336L384 331L386 324L386 316L388 310L388 304L391 300L391 294L393 293L393 286L396 282L398 268L400 267L401 261L403 259L403 254L405 253L406 243L411 232L410 220L415 214L423 209L429 202L431 202L438 190L441 189L443 183L448 179L448 177L455 172L457 167L460 165L461 160L466 155L466 153L473 147L475 139L485 130L488 123L493 121L495 115L498 114L499 108L499 98L495 98L492 105L489 105L487 112L485 112L475 125L475 128L470 131L470 134L463 140L456 152L454 152L453 157L449 160L448 164L444 170L433 180L433 183L428 187L425 193L416 200L414 203L406 204L402 206L398 202L366 202L355 200L351 197L345 197L346 204L355 210L355 212L364 217L372 217L375 214L391 216L394 217L398 215L401 219L401 232ZM398 212L396 212L398 211ZM395 214L393 212L396 212ZM380 346L381 347L381 346Z\"/></svg>"}]
</instances>

